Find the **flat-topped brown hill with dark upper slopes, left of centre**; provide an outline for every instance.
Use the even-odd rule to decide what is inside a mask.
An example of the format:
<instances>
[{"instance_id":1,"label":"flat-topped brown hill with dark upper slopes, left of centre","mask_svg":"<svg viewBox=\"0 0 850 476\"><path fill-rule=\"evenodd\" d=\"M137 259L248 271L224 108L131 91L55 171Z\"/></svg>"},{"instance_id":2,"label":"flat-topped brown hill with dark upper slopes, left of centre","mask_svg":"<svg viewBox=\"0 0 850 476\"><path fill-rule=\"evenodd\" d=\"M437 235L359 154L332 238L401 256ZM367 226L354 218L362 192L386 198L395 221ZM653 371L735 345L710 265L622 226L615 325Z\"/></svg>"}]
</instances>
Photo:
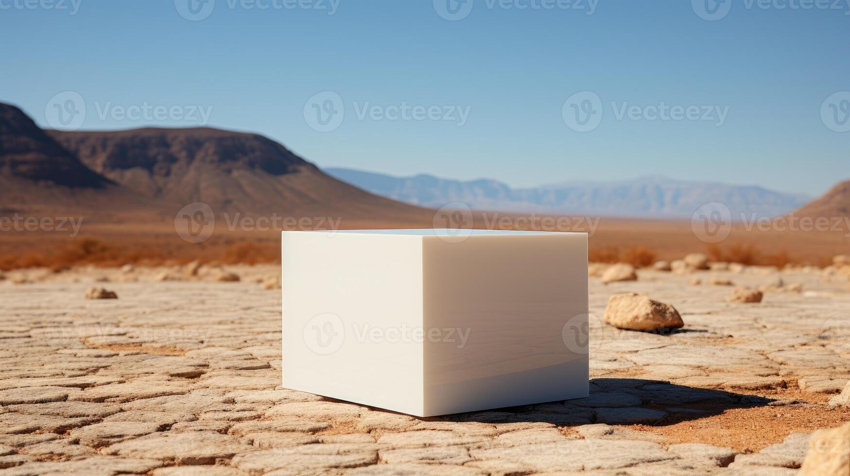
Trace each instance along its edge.
<instances>
[{"instance_id":1,"label":"flat-topped brown hill with dark upper slopes, left of centre","mask_svg":"<svg viewBox=\"0 0 850 476\"><path fill-rule=\"evenodd\" d=\"M258 134L209 127L48 133L94 171L169 207L202 201L216 212L376 219L428 213L331 178Z\"/></svg>"}]
</instances>

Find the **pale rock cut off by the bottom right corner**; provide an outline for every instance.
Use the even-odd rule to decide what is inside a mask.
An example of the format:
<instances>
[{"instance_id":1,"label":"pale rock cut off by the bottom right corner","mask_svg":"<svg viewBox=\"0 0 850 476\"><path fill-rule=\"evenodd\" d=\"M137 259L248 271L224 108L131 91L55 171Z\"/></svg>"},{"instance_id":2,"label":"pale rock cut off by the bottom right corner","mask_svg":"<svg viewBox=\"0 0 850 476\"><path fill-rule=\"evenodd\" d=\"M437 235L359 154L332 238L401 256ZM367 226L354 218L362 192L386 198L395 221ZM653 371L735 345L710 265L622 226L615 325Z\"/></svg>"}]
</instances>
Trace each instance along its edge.
<instances>
[{"instance_id":1,"label":"pale rock cut off by the bottom right corner","mask_svg":"<svg viewBox=\"0 0 850 476\"><path fill-rule=\"evenodd\" d=\"M847 476L850 474L850 422L838 428L818 430L808 440L801 476Z\"/></svg>"}]
</instances>

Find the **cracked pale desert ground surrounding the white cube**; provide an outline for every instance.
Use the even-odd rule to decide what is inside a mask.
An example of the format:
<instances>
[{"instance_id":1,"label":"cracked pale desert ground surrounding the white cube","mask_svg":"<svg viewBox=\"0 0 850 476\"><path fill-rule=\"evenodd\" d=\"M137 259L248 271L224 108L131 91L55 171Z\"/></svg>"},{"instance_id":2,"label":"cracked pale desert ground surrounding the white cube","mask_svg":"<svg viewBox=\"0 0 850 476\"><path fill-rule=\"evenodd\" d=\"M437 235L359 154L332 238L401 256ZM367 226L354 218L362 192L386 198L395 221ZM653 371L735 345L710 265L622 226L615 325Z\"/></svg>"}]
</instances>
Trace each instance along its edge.
<instances>
[{"instance_id":1,"label":"cracked pale desert ground surrounding the white cube","mask_svg":"<svg viewBox=\"0 0 850 476\"><path fill-rule=\"evenodd\" d=\"M7 271L0 473L773 476L797 473L810 433L850 422L834 267L603 284L606 267L590 277L589 398L432 418L281 388L278 265ZM762 302L728 302L734 286ZM684 326L605 324L623 292Z\"/></svg>"}]
</instances>

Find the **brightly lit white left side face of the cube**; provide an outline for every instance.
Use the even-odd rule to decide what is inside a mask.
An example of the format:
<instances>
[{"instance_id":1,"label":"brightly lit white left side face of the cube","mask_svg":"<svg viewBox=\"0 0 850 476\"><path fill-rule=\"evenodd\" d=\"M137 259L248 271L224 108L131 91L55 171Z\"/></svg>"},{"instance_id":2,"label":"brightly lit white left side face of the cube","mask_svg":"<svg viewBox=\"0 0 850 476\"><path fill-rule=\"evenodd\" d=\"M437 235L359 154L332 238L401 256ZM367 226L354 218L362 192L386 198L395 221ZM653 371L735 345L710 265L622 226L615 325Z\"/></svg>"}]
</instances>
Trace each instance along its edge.
<instances>
[{"instance_id":1,"label":"brightly lit white left side face of the cube","mask_svg":"<svg viewBox=\"0 0 850 476\"><path fill-rule=\"evenodd\" d=\"M283 232L283 386L422 414L422 239Z\"/></svg>"}]
</instances>

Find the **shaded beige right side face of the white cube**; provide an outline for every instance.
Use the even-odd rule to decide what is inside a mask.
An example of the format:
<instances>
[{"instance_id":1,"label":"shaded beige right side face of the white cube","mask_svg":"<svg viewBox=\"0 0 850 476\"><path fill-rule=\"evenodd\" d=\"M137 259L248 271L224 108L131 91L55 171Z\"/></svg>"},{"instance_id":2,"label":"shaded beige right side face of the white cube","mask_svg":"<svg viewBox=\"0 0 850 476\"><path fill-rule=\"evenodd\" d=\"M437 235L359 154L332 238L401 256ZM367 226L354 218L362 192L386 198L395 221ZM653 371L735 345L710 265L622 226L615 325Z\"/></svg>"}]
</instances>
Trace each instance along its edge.
<instances>
[{"instance_id":1,"label":"shaded beige right side face of the white cube","mask_svg":"<svg viewBox=\"0 0 850 476\"><path fill-rule=\"evenodd\" d=\"M587 235L423 241L426 416L587 397Z\"/></svg>"}]
</instances>

